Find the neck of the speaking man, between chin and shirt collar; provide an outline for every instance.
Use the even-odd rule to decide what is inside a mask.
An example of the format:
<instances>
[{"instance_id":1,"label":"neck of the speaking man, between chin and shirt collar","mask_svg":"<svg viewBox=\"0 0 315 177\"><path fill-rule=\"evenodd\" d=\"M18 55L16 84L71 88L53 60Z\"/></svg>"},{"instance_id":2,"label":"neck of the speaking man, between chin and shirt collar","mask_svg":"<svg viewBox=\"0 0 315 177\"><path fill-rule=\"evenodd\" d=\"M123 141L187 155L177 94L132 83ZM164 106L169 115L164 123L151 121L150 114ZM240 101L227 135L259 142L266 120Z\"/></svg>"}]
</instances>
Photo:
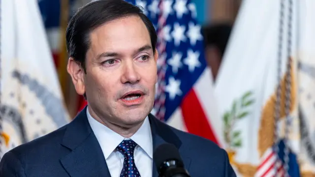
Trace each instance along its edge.
<instances>
[{"instance_id":1,"label":"neck of the speaking man, between chin and shirt collar","mask_svg":"<svg viewBox=\"0 0 315 177\"><path fill-rule=\"evenodd\" d=\"M137 124L123 125L117 122L112 122L106 118L100 118L90 107L88 107L88 111L90 115L92 116L92 118L94 118L96 121L100 122L101 124L107 126L109 129L113 130L114 132L120 134L124 138L130 138L133 134L135 134L138 131L138 129L141 127L142 123L144 122L143 120Z\"/></svg>"}]
</instances>

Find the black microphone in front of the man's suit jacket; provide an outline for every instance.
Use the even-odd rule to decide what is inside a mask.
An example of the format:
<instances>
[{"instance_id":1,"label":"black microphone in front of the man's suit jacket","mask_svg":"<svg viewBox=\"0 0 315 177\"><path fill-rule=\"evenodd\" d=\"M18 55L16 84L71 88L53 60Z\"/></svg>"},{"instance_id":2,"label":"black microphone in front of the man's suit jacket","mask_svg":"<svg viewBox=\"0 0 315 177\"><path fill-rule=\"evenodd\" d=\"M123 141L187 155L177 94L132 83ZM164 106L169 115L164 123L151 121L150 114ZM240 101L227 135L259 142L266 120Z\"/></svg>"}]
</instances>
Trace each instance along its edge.
<instances>
[{"instance_id":1,"label":"black microphone in front of the man's suit jacket","mask_svg":"<svg viewBox=\"0 0 315 177\"><path fill-rule=\"evenodd\" d=\"M158 169L158 177L190 177L178 149L172 144L158 146L153 159Z\"/></svg>"}]
</instances>

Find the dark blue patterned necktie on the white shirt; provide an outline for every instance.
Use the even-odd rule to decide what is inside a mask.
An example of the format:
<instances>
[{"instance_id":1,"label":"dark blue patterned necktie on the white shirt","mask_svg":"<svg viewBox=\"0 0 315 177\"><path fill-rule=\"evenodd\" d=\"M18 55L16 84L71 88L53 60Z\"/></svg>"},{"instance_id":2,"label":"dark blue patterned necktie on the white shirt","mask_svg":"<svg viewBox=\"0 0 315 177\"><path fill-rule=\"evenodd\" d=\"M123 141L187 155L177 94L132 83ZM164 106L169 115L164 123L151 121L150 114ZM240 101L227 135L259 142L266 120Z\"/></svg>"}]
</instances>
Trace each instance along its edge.
<instances>
[{"instance_id":1,"label":"dark blue patterned necktie on the white shirt","mask_svg":"<svg viewBox=\"0 0 315 177\"><path fill-rule=\"evenodd\" d=\"M118 145L116 150L122 153L125 157L124 166L120 177L141 177L134 163L133 152L137 144L132 140L124 140Z\"/></svg>"}]
</instances>

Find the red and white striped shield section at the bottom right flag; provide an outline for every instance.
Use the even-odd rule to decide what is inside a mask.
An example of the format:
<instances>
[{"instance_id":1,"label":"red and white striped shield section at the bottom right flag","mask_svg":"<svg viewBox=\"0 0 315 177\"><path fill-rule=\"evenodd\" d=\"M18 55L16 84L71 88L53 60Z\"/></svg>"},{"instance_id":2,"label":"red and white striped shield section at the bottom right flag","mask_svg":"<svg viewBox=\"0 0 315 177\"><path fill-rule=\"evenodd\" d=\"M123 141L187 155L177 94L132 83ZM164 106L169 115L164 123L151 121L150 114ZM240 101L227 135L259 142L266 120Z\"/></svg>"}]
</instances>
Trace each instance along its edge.
<instances>
[{"instance_id":1,"label":"red and white striped shield section at the bottom right flag","mask_svg":"<svg viewBox=\"0 0 315 177\"><path fill-rule=\"evenodd\" d=\"M268 148L262 156L255 177L285 177L283 163L272 148Z\"/></svg>"}]
</instances>

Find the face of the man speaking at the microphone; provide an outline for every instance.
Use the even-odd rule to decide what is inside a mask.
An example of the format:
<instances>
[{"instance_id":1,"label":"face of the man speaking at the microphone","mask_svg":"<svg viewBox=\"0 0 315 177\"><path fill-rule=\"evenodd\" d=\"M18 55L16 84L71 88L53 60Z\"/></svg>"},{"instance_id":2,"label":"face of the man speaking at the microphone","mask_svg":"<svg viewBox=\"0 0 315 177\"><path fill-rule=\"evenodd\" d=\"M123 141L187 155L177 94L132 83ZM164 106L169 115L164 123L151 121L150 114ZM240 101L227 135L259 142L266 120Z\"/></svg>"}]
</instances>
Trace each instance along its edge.
<instances>
[{"instance_id":1,"label":"face of the man speaking at the microphone","mask_svg":"<svg viewBox=\"0 0 315 177\"><path fill-rule=\"evenodd\" d=\"M153 108L158 58L145 24L137 16L120 18L93 30L90 41L77 92L86 92L101 119L123 127L142 122Z\"/></svg>"}]
</instances>

